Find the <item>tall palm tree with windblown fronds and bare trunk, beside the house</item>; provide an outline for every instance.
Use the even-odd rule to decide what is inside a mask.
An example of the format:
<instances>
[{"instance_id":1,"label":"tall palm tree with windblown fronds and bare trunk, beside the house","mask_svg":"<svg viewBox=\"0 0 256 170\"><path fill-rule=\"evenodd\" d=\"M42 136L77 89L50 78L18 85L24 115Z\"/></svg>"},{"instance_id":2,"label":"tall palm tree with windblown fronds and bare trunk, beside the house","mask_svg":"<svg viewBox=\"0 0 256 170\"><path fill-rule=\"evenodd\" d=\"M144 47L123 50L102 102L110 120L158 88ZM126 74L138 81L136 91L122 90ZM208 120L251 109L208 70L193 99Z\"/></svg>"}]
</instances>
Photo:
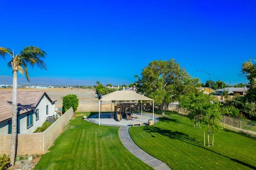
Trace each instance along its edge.
<instances>
[{"instance_id":1,"label":"tall palm tree with windblown fronds and bare trunk, beside the house","mask_svg":"<svg viewBox=\"0 0 256 170\"><path fill-rule=\"evenodd\" d=\"M11 148L10 148L10 160L12 166L14 166L14 160L16 156L17 146L17 72L22 75L26 74L26 78L29 81L28 67L34 67L36 64L39 68L46 69L46 64L42 60L46 56L46 52L35 46L26 46L22 51L14 54L14 51L6 47L0 47L0 56L5 58L6 55L12 56L11 61L8 63L8 67L12 68L13 81L12 81L12 134L11 134Z\"/></svg>"}]
</instances>

